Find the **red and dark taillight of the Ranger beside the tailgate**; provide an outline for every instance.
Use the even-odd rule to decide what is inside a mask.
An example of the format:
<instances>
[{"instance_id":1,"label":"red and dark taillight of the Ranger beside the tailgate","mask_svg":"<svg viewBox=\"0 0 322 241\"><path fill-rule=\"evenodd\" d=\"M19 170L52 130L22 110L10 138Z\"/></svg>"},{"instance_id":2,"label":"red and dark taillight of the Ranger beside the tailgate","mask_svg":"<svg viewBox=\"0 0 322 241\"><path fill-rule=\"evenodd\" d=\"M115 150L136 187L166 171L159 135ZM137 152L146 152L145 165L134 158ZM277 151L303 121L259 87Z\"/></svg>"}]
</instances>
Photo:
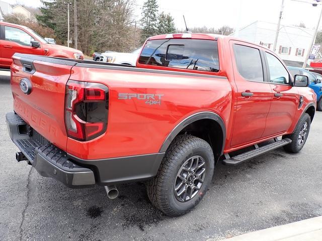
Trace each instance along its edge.
<instances>
[{"instance_id":1,"label":"red and dark taillight of the Ranger beside the tailgate","mask_svg":"<svg viewBox=\"0 0 322 241\"><path fill-rule=\"evenodd\" d=\"M65 91L67 136L93 140L106 132L109 89L104 84L68 80Z\"/></svg>"}]
</instances>

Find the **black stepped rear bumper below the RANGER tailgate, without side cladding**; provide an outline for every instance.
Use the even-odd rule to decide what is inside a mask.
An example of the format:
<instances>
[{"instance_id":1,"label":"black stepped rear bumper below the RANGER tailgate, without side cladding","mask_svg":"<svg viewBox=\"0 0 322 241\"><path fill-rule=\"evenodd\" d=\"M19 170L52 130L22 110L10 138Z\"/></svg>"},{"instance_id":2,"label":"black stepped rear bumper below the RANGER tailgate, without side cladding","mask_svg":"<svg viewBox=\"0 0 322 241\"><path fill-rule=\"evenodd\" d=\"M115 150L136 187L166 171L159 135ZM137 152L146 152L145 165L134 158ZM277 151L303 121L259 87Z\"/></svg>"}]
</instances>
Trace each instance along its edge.
<instances>
[{"instance_id":1,"label":"black stepped rear bumper below the RANGER tailgate, without side cladding","mask_svg":"<svg viewBox=\"0 0 322 241\"><path fill-rule=\"evenodd\" d=\"M52 177L72 188L95 185L91 169L73 163L66 153L32 131L18 114L7 113L6 121L11 139L41 176Z\"/></svg>"}]
</instances>

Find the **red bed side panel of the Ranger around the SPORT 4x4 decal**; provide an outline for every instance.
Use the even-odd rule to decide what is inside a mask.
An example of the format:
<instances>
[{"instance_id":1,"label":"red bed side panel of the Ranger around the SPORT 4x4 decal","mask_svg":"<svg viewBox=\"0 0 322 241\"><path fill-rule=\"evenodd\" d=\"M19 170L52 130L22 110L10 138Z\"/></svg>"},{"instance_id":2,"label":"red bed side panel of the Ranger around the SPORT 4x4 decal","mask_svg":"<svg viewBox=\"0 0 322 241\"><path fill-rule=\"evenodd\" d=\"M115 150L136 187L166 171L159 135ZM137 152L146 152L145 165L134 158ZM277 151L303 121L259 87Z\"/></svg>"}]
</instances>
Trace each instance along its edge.
<instances>
[{"instance_id":1,"label":"red bed side panel of the Ranger around the SPORT 4x4 decal","mask_svg":"<svg viewBox=\"0 0 322 241\"><path fill-rule=\"evenodd\" d=\"M229 120L232 97L225 78L73 67L70 79L102 83L110 91L107 132L89 142L67 140L67 152L78 158L157 153L176 125L196 112L213 111L226 125ZM162 96L160 104L150 105L119 99L119 93Z\"/></svg>"}]
</instances>

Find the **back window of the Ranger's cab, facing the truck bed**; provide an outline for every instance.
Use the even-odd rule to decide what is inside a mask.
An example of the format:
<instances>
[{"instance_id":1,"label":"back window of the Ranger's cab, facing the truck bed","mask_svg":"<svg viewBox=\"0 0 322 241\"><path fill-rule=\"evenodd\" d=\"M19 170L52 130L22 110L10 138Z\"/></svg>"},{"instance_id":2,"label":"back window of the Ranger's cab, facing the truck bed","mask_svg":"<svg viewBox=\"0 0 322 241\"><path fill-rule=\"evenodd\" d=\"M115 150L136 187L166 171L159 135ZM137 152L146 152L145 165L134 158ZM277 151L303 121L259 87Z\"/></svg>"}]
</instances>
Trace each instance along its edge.
<instances>
[{"instance_id":1,"label":"back window of the Ranger's cab, facing the truck bed","mask_svg":"<svg viewBox=\"0 0 322 241\"><path fill-rule=\"evenodd\" d=\"M214 40L162 39L147 41L140 64L218 72L218 46Z\"/></svg>"}]
</instances>

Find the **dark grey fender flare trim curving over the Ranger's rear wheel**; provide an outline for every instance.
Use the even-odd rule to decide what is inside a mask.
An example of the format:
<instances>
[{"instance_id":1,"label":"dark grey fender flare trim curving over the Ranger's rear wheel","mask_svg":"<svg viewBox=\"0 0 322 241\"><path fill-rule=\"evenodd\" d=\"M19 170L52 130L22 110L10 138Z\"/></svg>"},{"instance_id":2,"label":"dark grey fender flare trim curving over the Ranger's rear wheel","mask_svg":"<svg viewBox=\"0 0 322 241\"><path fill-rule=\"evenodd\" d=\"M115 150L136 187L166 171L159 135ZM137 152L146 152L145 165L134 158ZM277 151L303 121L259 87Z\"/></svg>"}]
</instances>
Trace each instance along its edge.
<instances>
[{"instance_id":1,"label":"dark grey fender flare trim curving over the Ranger's rear wheel","mask_svg":"<svg viewBox=\"0 0 322 241\"><path fill-rule=\"evenodd\" d=\"M223 149L225 146L225 141L226 141L226 127L223 119L218 114L211 111L197 112L183 119L183 121L181 121L168 135L168 137L162 144L159 152L160 153L166 152L168 147L172 143L172 141L185 127L189 126L191 123L199 121L200 119L212 119L220 126L222 131L222 149L221 149L221 155L222 155Z\"/></svg>"}]
</instances>

